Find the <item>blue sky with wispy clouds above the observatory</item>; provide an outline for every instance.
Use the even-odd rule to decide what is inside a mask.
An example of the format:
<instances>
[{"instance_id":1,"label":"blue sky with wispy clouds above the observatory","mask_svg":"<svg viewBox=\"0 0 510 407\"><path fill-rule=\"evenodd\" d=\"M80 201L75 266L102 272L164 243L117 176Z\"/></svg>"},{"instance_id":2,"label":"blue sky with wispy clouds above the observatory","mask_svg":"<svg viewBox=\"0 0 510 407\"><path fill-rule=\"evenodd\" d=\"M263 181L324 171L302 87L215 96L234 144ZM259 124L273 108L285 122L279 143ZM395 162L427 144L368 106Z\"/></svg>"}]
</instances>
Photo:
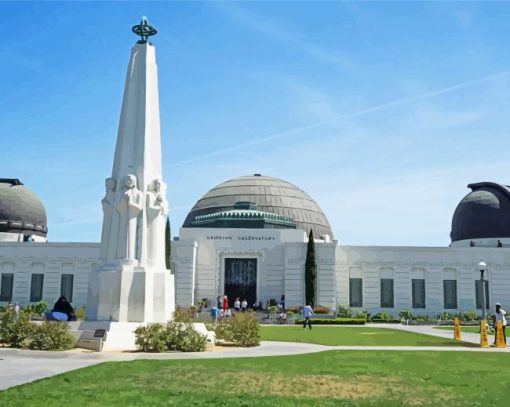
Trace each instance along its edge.
<instances>
[{"instance_id":1,"label":"blue sky with wispy clouds above the observatory","mask_svg":"<svg viewBox=\"0 0 510 407\"><path fill-rule=\"evenodd\" d=\"M468 183L510 184L509 3L0 2L0 176L39 195L49 240L99 241L141 15L173 235L262 173L341 244L445 246Z\"/></svg>"}]
</instances>

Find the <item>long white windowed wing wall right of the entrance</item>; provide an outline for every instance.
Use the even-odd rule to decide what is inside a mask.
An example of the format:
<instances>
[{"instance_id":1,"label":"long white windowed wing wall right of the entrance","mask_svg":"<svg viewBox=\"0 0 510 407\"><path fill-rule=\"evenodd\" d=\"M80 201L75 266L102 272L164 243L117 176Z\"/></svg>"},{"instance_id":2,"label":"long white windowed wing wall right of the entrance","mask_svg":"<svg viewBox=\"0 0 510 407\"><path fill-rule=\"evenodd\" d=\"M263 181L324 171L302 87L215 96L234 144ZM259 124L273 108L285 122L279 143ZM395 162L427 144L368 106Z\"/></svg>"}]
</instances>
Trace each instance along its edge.
<instances>
[{"instance_id":1,"label":"long white windowed wing wall right of the entrance","mask_svg":"<svg viewBox=\"0 0 510 407\"><path fill-rule=\"evenodd\" d=\"M337 304L349 305L349 275L363 279L363 307L398 316L401 310L417 314L462 312L476 308L475 280L478 262L488 266L491 308L496 302L510 306L510 249L488 247L363 247L336 248ZM412 308L411 280L425 279L425 309ZM394 279L394 308L381 308L380 279ZM443 280L457 280L457 309L445 309Z\"/></svg>"}]
</instances>

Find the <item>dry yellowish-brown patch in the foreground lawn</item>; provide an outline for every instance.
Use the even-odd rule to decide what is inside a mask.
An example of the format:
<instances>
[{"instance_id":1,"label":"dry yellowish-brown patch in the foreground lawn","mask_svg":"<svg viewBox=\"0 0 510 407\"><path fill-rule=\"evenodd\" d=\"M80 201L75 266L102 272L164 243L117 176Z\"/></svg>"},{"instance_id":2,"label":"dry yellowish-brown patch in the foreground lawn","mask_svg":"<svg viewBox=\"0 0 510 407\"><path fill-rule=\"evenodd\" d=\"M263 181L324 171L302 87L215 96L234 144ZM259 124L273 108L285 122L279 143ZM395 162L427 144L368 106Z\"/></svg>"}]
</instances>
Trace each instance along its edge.
<instances>
[{"instance_id":1,"label":"dry yellowish-brown patch in the foreground lawn","mask_svg":"<svg viewBox=\"0 0 510 407\"><path fill-rule=\"evenodd\" d=\"M145 388L146 379L154 372L138 374L131 383ZM147 376L144 377L144 376ZM398 376L357 375L336 376L334 374L294 375L280 372L243 372L228 370L215 372L205 367L179 366L158 371L160 378L171 378L171 387L180 391L229 395L279 396L288 399L316 400L381 400L403 402L419 406L437 402L445 405L453 397L450 391L435 385L410 384ZM168 389L166 380L151 380L153 389Z\"/></svg>"}]
</instances>

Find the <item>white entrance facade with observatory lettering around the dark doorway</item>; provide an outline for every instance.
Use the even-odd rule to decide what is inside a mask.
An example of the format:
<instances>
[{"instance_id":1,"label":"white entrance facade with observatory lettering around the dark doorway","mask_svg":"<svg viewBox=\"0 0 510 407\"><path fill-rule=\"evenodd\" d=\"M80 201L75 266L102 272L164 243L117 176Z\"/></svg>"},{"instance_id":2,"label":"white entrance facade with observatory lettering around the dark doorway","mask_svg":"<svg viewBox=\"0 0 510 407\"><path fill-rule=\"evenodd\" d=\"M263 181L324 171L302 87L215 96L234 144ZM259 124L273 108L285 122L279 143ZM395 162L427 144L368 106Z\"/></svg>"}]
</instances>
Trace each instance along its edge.
<instances>
[{"instance_id":1,"label":"white entrance facade with observatory lettering around the dark doorway","mask_svg":"<svg viewBox=\"0 0 510 407\"><path fill-rule=\"evenodd\" d=\"M271 299L280 301L283 294L287 295L286 246L298 245L296 253L299 253L300 270L304 264L305 241L303 231L292 229L182 228L179 240L172 242L176 304L190 306L202 298L215 303L217 296L223 295L227 258L257 259L257 300L263 304ZM191 245L196 245L194 266L189 249ZM294 257L290 260L291 264L296 262ZM194 277L191 277L193 273ZM292 278L301 281L301 277L295 274ZM296 287L296 290L299 289ZM289 295L299 294L295 291Z\"/></svg>"}]
</instances>

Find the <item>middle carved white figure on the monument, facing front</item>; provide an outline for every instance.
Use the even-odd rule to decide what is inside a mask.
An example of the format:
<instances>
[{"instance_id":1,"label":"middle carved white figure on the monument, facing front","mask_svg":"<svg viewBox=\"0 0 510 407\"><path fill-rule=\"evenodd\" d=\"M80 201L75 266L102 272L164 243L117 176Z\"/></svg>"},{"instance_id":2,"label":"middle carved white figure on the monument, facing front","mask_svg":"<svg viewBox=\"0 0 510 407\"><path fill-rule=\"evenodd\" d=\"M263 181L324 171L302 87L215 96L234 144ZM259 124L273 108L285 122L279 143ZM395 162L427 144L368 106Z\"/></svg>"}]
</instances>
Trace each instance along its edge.
<instances>
[{"instance_id":1,"label":"middle carved white figure on the monument, facing front","mask_svg":"<svg viewBox=\"0 0 510 407\"><path fill-rule=\"evenodd\" d=\"M119 238L117 259L136 260L138 239L138 215L143 209L143 193L137 188L136 176L128 174L124 178L125 192L117 203L119 213Z\"/></svg>"}]
</instances>

